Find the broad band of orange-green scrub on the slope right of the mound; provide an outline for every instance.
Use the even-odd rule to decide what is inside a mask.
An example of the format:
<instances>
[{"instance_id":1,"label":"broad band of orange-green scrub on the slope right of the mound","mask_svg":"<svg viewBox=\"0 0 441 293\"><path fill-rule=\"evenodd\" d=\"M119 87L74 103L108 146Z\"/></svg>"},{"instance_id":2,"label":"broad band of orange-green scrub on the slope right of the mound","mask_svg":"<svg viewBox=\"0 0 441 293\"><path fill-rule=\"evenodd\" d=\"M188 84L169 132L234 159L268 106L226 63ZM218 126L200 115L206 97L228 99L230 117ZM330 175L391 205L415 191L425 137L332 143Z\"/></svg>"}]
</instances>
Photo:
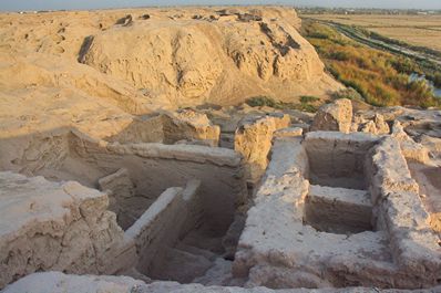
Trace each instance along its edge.
<instances>
[{"instance_id":1,"label":"broad band of orange-green scrub on the slope right of the mound","mask_svg":"<svg viewBox=\"0 0 441 293\"><path fill-rule=\"evenodd\" d=\"M329 73L356 90L367 103L376 106L440 106L440 100L433 96L427 82L410 81L411 73L428 73L414 60L361 45L334 28L311 20L304 21L302 33L317 49ZM441 73L432 74L427 77L438 83Z\"/></svg>"}]
</instances>

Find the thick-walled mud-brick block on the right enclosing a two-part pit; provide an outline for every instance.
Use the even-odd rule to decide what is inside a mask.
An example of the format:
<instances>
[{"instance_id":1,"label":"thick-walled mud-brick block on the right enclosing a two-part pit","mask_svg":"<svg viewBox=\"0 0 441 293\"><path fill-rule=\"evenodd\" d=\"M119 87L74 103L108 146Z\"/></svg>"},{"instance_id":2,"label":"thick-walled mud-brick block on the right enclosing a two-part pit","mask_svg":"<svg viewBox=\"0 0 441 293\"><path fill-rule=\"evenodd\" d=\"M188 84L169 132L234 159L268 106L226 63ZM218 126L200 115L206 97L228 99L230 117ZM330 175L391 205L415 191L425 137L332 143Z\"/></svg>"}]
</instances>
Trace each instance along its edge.
<instances>
[{"instance_id":1,"label":"thick-walled mud-brick block on the right enclosing a two-part pit","mask_svg":"<svg viewBox=\"0 0 441 293\"><path fill-rule=\"evenodd\" d=\"M397 140L317 132L277 139L271 158L236 274L269 287L438 284L439 238Z\"/></svg>"}]
</instances>

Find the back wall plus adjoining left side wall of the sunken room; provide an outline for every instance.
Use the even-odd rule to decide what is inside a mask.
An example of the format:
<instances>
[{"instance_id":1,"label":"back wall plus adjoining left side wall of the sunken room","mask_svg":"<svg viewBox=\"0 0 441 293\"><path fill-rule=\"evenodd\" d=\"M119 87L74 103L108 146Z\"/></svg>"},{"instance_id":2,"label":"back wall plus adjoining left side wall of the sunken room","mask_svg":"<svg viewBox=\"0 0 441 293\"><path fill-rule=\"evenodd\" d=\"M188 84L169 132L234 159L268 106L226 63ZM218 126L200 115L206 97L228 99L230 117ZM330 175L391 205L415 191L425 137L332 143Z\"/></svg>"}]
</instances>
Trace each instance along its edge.
<instances>
[{"instance_id":1,"label":"back wall plus adjoining left side wall of the sunken room","mask_svg":"<svg viewBox=\"0 0 441 293\"><path fill-rule=\"evenodd\" d=\"M76 180L98 188L99 179L125 168L142 213L168 187L201 179L207 222L226 231L236 207L244 203L246 185L242 159L234 150L193 145L106 143L60 129L25 136L1 145L0 170L53 181ZM10 151L9 151L10 150Z\"/></svg>"}]
</instances>

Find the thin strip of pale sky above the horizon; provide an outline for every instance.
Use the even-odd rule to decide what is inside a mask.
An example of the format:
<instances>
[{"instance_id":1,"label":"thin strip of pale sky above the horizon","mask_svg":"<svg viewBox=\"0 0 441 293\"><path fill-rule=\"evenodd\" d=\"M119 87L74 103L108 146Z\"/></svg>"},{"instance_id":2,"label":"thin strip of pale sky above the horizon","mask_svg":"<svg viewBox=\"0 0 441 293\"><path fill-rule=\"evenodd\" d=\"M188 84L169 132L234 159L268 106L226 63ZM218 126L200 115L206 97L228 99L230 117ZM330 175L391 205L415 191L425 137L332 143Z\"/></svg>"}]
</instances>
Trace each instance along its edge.
<instances>
[{"instance_id":1,"label":"thin strip of pale sky above the horizon","mask_svg":"<svg viewBox=\"0 0 441 293\"><path fill-rule=\"evenodd\" d=\"M59 10L191 4L293 4L324 7L441 9L441 0L0 0L0 10Z\"/></svg>"}]
</instances>

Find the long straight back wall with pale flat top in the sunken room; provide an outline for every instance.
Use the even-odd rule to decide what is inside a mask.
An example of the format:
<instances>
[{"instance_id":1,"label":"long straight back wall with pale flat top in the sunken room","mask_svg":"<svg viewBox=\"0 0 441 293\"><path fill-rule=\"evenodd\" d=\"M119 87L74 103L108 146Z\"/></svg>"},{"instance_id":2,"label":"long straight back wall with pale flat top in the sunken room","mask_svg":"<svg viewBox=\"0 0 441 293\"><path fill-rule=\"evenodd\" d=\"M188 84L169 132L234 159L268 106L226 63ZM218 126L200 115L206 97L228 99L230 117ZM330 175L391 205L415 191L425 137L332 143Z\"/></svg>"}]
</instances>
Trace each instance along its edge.
<instances>
[{"instance_id":1,"label":"long straight back wall with pale flat top in the sunken room","mask_svg":"<svg viewBox=\"0 0 441 293\"><path fill-rule=\"evenodd\" d=\"M191 179L199 179L206 220L218 230L228 229L236 207L245 201L242 160L229 149L117 143L101 148L81 139L76 139L74 149L102 175L126 168L136 186L135 193L146 198L156 198L170 186L184 186Z\"/></svg>"}]
</instances>

